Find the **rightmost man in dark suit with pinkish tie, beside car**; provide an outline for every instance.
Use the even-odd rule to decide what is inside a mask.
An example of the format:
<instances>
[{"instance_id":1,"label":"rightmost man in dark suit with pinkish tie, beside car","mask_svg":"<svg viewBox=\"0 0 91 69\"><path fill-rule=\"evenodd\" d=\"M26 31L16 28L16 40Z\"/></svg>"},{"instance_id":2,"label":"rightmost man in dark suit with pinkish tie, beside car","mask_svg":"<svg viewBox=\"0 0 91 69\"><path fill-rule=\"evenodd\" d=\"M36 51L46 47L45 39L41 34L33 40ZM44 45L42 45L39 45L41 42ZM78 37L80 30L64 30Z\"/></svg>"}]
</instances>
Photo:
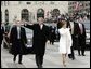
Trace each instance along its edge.
<instances>
[{"instance_id":1,"label":"rightmost man in dark suit with pinkish tie, beside car","mask_svg":"<svg viewBox=\"0 0 91 69\"><path fill-rule=\"evenodd\" d=\"M83 23L78 18L78 25L79 25L79 36L78 36L78 55L84 55L86 50L86 28ZM80 54L81 51L81 54Z\"/></svg>"}]
</instances>

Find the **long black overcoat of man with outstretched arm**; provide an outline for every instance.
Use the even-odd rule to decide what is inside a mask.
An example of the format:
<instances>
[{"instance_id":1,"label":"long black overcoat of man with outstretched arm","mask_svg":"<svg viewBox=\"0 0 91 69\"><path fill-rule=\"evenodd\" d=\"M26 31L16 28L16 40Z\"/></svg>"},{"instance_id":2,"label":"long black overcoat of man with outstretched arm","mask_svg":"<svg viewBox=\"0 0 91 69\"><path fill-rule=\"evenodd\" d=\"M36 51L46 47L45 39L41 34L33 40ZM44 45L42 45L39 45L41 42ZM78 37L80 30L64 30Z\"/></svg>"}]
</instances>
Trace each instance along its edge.
<instances>
[{"instance_id":1,"label":"long black overcoat of man with outstretched arm","mask_svg":"<svg viewBox=\"0 0 91 69\"><path fill-rule=\"evenodd\" d=\"M34 30L32 49L35 54L44 55L46 42L49 39L49 27L43 25L42 30L39 24L26 25L26 28Z\"/></svg>"}]
</instances>

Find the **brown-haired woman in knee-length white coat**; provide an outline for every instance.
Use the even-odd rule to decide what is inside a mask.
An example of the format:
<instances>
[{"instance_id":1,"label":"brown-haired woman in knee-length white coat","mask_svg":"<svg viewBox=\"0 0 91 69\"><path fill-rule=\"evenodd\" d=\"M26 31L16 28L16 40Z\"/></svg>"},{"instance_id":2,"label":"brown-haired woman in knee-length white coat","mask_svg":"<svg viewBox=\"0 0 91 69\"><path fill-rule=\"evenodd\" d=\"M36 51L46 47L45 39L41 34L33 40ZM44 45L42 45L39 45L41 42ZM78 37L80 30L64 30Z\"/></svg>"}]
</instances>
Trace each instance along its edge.
<instances>
[{"instance_id":1,"label":"brown-haired woman in knee-length white coat","mask_svg":"<svg viewBox=\"0 0 91 69\"><path fill-rule=\"evenodd\" d=\"M72 36L70 36L70 29L66 28L66 20L61 20L60 25L62 28L58 29L60 32L60 53L62 54L62 58L63 58L63 66L66 66L65 61L66 61L66 55L70 54L70 46L73 44L72 41Z\"/></svg>"}]
</instances>

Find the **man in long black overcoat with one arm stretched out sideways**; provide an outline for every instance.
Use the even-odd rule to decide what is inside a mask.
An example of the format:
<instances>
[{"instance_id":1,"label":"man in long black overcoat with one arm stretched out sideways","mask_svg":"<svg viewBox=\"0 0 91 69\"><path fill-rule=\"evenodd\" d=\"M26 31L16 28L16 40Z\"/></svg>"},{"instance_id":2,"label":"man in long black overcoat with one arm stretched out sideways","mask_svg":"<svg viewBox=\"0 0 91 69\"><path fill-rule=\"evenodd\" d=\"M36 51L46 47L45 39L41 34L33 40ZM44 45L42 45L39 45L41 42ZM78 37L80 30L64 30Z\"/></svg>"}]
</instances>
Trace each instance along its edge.
<instances>
[{"instance_id":1,"label":"man in long black overcoat with one arm stretched out sideways","mask_svg":"<svg viewBox=\"0 0 91 69\"><path fill-rule=\"evenodd\" d=\"M24 26L34 30L32 51L36 54L36 64L38 68L42 68L46 42L49 39L49 27L43 24L42 17L38 18L38 24L25 24Z\"/></svg>"}]
</instances>

